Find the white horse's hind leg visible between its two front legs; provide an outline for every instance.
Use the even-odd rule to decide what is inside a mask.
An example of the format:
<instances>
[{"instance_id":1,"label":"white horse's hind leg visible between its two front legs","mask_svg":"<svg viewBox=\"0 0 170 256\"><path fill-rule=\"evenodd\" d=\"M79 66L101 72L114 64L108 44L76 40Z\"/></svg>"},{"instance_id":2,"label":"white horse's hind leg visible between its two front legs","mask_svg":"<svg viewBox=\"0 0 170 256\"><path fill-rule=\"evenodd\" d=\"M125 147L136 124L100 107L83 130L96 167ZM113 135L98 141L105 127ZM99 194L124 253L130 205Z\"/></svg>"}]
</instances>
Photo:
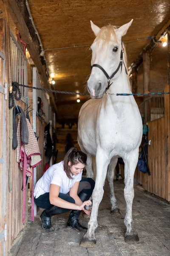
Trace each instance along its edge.
<instances>
[{"instance_id":1,"label":"white horse's hind leg visible between its two front legs","mask_svg":"<svg viewBox=\"0 0 170 256\"><path fill-rule=\"evenodd\" d=\"M114 179L114 169L116 167L117 158L114 157L111 159L111 162L108 166L108 173L107 173L107 179L109 182L110 187L110 203L111 203L111 214L117 215L120 214L119 208L117 206L116 197L114 194L114 186L113 186L113 179Z\"/></svg>"}]
</instances>

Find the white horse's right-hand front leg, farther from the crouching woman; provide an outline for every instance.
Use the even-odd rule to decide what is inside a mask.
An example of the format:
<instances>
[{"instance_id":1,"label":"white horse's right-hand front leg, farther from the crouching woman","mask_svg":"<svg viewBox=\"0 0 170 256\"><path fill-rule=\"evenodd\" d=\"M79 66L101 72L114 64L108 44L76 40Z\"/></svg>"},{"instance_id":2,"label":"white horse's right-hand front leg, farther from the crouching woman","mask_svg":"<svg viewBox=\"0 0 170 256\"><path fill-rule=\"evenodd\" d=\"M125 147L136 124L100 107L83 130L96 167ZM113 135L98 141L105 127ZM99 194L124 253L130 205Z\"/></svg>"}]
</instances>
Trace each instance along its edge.
<instances>
[{"instance_id":1,"label":"white horse's right-hand front leg, farther from the crouching woman","mask_svg":"<svg viewBox=\"0 0 170 256\"><path fill-rule=\"evenodd\" d=\"M126 201L126 216L125 226L127 228L125 233L125 241L127 243L133 243L139 241L138 233L133 229L133 218L132 218L132 203L134 198L133 179L136 169L136 165L139 157L139 149L130 153L125 157L125 189L124 197Z\"/></svg>"}]
</instances>

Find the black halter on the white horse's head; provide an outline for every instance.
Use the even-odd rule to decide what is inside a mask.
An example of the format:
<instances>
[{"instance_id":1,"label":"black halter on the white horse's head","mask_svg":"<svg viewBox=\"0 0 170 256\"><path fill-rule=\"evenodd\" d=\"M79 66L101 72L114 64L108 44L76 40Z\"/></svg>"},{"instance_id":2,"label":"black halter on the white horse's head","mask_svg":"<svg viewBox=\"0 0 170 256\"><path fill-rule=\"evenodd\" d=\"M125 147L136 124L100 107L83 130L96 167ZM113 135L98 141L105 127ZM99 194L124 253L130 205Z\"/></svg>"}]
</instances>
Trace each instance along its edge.
<instances>
[{"instance_id":1,"label":"black halter on the white horse's head","mask_svg":"<svg viewBox=\"0 0 170 256\"><path fill-rule=\"evenodd\" d=\"M122 72L122 64L124 64L125 66L125 63L123 61L123 52L124 52L124 48L123 48L123 43L122 43L122 50L121 50L121 53L120 53L120 62L119 62L119 66L117 67L117 69L113 72L113 74L111 76L108 75L108 73L104 70L104 68L102 68L100 65L98 64L93 64L93 66L91 66L91 70L93 67L98 67L100 70L103 71L103 73L105 74L105 76L107 77L108 79L108 87L106 87L106 91L109 89L109 87L111 86L111 79L116 75L116 73L119 71L119 68L121 67L121 72ZM126 71L126 74L127 74L127 69L125 67L125 71Z\"/></svg>"}]
</instances>

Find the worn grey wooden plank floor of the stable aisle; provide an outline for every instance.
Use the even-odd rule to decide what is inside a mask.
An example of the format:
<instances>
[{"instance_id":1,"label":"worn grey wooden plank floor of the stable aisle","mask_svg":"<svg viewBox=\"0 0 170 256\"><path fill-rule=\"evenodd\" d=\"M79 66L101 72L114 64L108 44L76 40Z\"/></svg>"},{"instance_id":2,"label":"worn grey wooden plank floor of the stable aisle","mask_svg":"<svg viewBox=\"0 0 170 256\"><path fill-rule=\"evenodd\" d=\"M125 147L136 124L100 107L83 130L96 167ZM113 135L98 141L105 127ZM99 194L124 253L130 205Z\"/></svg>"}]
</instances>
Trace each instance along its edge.
<instances>
[{"instance_id":1,"label":"worn grey wooden plank floor of the stable aisle","mask_svg":"<svg viewBox=\"0 0 170 256\"><path fill-rule=\"evenodd\" d=\"M55 227L55 232L52 233L42 230L37 216L34 223L29 222L15 239L9 256L170 256L170 205L135 189L133 220L140 242L126 244L123 222L124 184L119 181L114 182L114 185L122 216L110 215L106 182L105 194L99 207L96 247L79 247L83 233L65 227L68 214L52 217ZM88 218L81 216L80 221L87 226Z\"/></svg>"}]
</instances>

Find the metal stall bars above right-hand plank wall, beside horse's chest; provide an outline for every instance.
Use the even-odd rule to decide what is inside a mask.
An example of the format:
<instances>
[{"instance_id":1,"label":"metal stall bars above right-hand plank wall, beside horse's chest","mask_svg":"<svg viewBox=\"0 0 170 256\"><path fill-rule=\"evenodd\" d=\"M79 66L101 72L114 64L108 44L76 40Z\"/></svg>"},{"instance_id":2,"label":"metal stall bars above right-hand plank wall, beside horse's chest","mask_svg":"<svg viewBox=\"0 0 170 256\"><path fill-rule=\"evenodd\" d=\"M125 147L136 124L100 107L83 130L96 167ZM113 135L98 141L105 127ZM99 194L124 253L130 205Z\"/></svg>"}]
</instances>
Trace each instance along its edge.
<instances>
[{"instance_id":1,"label":"metal stall bars above right-hand plank wall, beside horse's chest","mask_svg":"<svg viewBox=\"0 0 170 256\"><path fill-rule=\"evenodd\" d=\"M139 111L145 123L164 117L164 94L153 95L145 99L139 105Z\"/></svg>"}]
</instances>

